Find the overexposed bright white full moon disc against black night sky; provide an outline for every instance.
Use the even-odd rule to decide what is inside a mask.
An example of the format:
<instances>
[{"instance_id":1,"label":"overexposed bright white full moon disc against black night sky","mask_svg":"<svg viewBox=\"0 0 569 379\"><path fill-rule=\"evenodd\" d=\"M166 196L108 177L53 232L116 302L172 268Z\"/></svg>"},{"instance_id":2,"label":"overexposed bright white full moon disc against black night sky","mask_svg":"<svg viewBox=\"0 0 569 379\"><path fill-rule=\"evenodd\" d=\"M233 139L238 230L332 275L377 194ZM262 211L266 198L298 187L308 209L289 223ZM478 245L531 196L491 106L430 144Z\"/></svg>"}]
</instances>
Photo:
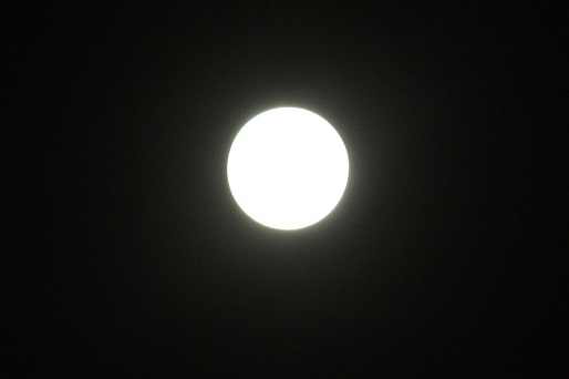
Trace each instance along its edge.
<instances>
[{"instance_id":1,"label":"overexposed bright white full moon disc against black night sky","mask_svg":"<svg viewBox=\"0 0 569 379\"><path fill-rule=\"evenodd\" d=\"M227 163L239 207L276 229L318 223L337 206L348 183L348 152L324 119L278 107L250 120L237 134Z\"/></svg>"}]
</instances>

